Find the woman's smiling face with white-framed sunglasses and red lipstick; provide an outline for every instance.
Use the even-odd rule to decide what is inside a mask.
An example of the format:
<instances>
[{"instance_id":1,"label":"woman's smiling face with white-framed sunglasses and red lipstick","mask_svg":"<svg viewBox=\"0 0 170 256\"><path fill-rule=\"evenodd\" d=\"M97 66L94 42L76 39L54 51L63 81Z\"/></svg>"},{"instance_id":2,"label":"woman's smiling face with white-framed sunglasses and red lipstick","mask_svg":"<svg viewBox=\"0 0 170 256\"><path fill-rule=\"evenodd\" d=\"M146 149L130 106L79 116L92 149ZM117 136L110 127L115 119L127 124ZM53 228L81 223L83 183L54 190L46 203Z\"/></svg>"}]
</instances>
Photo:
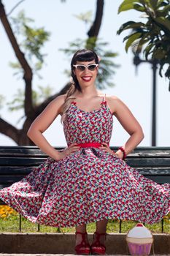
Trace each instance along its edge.
<instances>
[{"instance_id":1,"label":"woman's smiling face with white-framed sunglasses and red lipstick","mask_svg":"<svg viewBox=\"0 0 170 256\"><path fill-rule=\"evenodd\" d=\"M81 87L94 85L98 73L98 64L93 61L77 61L74 75Z\"/></svg>"}]
</instances>

